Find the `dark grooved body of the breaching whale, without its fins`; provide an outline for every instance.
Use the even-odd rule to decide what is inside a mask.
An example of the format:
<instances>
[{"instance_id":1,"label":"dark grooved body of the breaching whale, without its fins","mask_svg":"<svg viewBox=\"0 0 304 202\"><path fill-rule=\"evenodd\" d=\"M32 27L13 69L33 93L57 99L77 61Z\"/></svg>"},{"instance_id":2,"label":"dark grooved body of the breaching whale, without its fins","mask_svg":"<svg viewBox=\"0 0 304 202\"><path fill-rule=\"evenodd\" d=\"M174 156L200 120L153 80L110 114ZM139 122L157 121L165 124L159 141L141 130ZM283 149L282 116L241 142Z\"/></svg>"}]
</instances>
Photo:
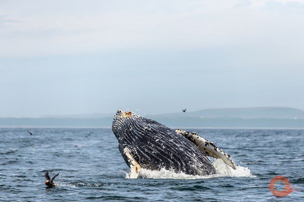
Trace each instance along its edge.
<instances>
[{"instance_id":1,"label":"dark grooved body of the breaching whale, without its fins","mask_svg":"<svg viewBox=\"0 0 304 202\"><path fill-rule=\"evenodd\" d=\"M196 145L174 130L132 112L118 110L114 116L112 131L119 143L119 151L124 148L141 168L150 170L174 170L189 175L215 174L208 157Z\"/></svg>"}]
</instances>

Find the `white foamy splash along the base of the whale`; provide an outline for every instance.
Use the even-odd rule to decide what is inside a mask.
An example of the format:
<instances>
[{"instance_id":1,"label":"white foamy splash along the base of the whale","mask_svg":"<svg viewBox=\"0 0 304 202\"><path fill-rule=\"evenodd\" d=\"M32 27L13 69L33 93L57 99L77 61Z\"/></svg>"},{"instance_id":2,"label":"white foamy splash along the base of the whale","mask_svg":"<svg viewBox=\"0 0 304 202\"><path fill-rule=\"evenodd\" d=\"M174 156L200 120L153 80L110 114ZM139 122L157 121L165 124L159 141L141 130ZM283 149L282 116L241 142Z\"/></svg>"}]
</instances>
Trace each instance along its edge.
<instances>
[{"instance_id":1,"label":"white foamy splash along the base of the whale","mask_svg":"<svg viewBox=\"0 0 304 202\"><path fill-rule=\"evenodd\" d=\"M234 170L232 167L227 165L221 159L215 159L212 163L213 167L216 169L216 174L213 175L187 175L183 172L176 173L173 170L166 170L162 168L161 170L140 170L140 177L142 178L153 178L153 179L207 179L214 177L256 177L253 175L249 168L237 165L237 169ZM134 173L126 173L126 178L134 178Z\"/></svg>"}]
</instances>

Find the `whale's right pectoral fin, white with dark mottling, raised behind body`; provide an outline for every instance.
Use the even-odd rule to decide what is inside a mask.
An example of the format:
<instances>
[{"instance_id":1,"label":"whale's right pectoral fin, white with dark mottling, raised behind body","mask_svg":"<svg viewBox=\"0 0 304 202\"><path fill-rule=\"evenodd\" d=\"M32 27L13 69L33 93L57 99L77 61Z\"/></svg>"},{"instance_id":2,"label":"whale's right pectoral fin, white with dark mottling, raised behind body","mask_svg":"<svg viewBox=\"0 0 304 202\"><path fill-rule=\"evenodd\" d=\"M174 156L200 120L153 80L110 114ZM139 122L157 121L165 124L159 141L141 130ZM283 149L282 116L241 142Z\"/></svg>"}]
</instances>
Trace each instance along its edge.
<instances>
[{"instance_id":1,"label":"whale's right pectoral fin, white with dark mottling, raised behind body","mask_svg":"<svg viewBox=\"0 0 304 202\"><path fill-rule=\"evenodd\" d=\"M186 132L179 129L175 130L178 134L183 135L185 138L194 143L204 154L214 158L222 159L226 164L230 165L233 169L236 169L236 164L233 161L232 157L229 154L224 153L218 147L216 147L212 142L205 140L200 137L195 132Z\"/></svg>"}]
</instances>

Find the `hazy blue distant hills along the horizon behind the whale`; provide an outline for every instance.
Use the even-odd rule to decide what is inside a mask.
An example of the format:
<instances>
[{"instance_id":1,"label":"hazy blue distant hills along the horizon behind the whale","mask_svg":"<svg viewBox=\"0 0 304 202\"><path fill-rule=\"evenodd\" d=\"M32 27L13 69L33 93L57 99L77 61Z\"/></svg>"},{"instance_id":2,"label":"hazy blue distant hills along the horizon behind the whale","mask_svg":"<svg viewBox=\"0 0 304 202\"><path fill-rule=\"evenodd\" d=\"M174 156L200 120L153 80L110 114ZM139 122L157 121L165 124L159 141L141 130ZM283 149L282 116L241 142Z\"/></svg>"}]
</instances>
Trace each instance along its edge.
<instances>
[{"instance_id":1,"label":"hazy blue distant hills along the horizon behind the whale","mask_svg":"<svg viewBox=\"0 0 304 202\"><path fill-rule=\"evenodd\" d=\"M111 127L114 114L0 118L0 127ZM169 127L304 128L304 111L293 108L231 108L146 115Z\"/></svg>"}]
</instances>

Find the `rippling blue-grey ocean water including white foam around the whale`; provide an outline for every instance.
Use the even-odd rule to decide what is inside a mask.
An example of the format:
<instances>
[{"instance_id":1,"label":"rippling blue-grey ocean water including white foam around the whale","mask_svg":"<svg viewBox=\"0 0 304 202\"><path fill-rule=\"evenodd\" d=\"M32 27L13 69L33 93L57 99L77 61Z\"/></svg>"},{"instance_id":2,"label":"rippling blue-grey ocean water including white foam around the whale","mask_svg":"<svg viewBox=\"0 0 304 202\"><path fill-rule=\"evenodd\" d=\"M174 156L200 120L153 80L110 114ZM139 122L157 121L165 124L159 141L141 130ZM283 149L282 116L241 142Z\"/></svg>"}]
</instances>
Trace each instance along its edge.
<instances>
[{"instance_id":1,"label":"rippling blue-grey ocean water including white foam around the whale","mask_svg":"<svg viewBox=\"0 0 304 202\"><path fill-rule=\"evenodd\" d=\"M235 160L214 160L217 174L142 170L132 179L111 129L0 129L0 201L304 201L304 130L196 131ZM212 160L212 159L211 159ZM49 170L57 186L46 188ZM274 196L285 176L293 192ZM283 190L277 182L275 188Z\"/></svg>"}]
</instances>

